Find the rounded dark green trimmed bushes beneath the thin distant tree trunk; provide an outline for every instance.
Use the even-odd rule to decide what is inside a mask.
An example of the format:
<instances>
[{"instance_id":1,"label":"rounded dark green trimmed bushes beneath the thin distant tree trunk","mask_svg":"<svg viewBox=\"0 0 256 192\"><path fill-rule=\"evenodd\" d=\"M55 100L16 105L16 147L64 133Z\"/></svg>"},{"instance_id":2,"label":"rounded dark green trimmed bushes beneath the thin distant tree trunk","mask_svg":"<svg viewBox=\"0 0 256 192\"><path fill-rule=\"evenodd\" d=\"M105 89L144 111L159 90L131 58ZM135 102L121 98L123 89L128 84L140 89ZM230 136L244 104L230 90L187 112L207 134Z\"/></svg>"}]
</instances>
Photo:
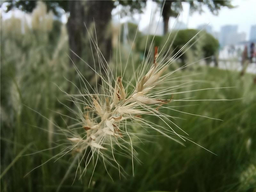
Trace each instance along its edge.
<instances>
[{"instance_id":1,"label":"rounded dark green trimmed bushes beneath the thin distant tree trunk","mask_svg":"<svg viewBox=\"0 0 256 192\"><path fill-rule=\"evenodd\" d=\"M199 32L199 30L196 29L184 29L179 31L172 31L171 36L168 39L169 34L165 36L143 36L140 39L137 39L136 48L138 51L143 52L145 50L145 44L148 38L148 42L152 42L153 38L153 45L159 46L161 49L165 42L167 41L167 44L165 45L165 50L169 49L169 47L172 45L172 51L171 55L175 55L179 52L179 50L190 41L196 34ZM142 43L141 43L142 42ZM146 53L149 52L150 43L147 44ZM190 47L191 46L191 47ZM210 61L211 56L215 56L219 49L219 42L217 39L215 39L211 34L206 33L205 31L200 32L190 43L187 45L187 47L177 54L177 57L180 57L182 62L184 63L185 60L188 58L187 55L187 49L189 48L189 52L193 52L193 56L197 57L198 60L202 58L207 58L207 61ZM184 54L185 52L185 54ZM202 52L202 53L201 53Z\"/></svg>"}]
</instances>

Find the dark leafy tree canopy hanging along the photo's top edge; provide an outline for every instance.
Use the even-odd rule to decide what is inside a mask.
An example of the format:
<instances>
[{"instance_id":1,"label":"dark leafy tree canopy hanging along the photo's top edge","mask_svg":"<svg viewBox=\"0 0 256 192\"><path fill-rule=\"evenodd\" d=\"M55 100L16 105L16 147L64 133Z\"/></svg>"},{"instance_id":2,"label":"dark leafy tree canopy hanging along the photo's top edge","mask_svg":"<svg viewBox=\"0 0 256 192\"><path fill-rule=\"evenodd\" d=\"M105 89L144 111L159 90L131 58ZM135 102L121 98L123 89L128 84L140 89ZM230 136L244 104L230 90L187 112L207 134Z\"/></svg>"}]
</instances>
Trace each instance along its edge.
<instances>
[{"instance_id":1,"label":"dark leafy tree canopy hanging along the photo's top edge","mask_svg":"<svg viewBox=\"0 0 256 192\"><path fill-rule=\"evenodd\" d=\"M142 13L142 9L146 6L147 0L117 0L113 4L113 8L118 4L122 5L122 14L127 15L129 12L133 13L138 11ZM199 12L202 13L203 6L207 6L208 9L214 15L218 15L219 10L222 7L234 8L231 4L231 0L154 0L161 8L163 8L162 17L164 20L164 34L168 32L168 24L170 17L177 17L179 12L182 10L182 2L187 2L190 5L190 13ZM7 1L7 12L10 11L13 7L16 7L22 11L32 12L36 6L36 1L21 1L21 0L9 0ZM68 1L59 1L59 0L43 0L46 4L48 10L52 10L53 13L57 16L60 16L58 8L62 8L65 12L69 12L70 6L68 6Z\"/></svg>"}]
</instances>

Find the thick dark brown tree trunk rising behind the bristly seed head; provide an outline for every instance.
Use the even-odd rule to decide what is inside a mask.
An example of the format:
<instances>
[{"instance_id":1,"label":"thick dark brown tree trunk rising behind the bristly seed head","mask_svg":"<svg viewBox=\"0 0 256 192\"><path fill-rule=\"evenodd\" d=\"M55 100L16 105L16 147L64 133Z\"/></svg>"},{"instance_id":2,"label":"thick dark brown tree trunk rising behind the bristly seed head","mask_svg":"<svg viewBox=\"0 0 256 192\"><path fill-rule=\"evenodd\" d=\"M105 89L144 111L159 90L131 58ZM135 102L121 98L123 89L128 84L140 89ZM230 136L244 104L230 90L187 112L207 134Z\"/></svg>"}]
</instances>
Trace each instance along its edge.
<instances>
[{"instance_id":1,"label":"thick dark brown tree trunk rising behind the bristly seed head","mask_svg":"<svg viewBox=\"0 0 256 192\"><path fill-rule=\"evenodd\" d=\"M85 59L89 64L94 66L94 63L92 63L93 59L89 39L86 40L87 42L84 42L84 37L87 34L84 23L89 31L92 24L95 23L98 47L105 60L108 61L112 50L112 35L108 30L108 24L111 21L111 11L114 8L113 1L69 1L68 6L70 10L68 19L70 49L79 57ZM94 28L92 28L92 31L94 33ZM95 34L92 38L96 42ZM97 57L93 45L92 49L94 57ZM73 53L70 53L70 56L74 63L80 61L80 59ZM102 60L104 61L103 58ZM95 58L95 61L97 62L98 58Z\"/></svg>"}]
</instances>

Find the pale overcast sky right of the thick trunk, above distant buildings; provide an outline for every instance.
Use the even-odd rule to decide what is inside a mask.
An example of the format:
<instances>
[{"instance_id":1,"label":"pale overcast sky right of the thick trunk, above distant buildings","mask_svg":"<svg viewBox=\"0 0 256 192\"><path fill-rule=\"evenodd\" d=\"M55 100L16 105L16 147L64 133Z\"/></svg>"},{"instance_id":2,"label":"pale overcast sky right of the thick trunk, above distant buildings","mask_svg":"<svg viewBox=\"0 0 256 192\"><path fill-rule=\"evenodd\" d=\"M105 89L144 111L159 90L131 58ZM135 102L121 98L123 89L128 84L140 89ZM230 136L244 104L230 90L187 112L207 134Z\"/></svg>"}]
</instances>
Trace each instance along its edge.
<instances>
[{"instance_id":1,"label":"pale overcast sky right of the thick trunk, above distant buildings","mask_svg":"<svg viewBox=\"0 0 256 192\"><path fill-rule=\"evenodd\" d=\"M245 32L246 39L248 39L251 26L256 24L256 0L232 0L232 5L237 5L237 7L233 9L221 8L218 16L214 16L206 6L203 7L204 12L201 15L195 12L189 16L189 5L182 3L183 11L180 13L178 20L187 24L188 28L196 28L200 24L209 23L214 31L220 31L220 27L223 25L238 25L238 32ZM141 30L148 26L151 11L154 13L156 7L154 2L148 1L144 13L134 15L136 20L140 20L139 28ZM158 21L159 17L160 8L158 8L154 18ZM174 21L174 18L170 20L171 26Z\"/></svg>"}]
</instances>

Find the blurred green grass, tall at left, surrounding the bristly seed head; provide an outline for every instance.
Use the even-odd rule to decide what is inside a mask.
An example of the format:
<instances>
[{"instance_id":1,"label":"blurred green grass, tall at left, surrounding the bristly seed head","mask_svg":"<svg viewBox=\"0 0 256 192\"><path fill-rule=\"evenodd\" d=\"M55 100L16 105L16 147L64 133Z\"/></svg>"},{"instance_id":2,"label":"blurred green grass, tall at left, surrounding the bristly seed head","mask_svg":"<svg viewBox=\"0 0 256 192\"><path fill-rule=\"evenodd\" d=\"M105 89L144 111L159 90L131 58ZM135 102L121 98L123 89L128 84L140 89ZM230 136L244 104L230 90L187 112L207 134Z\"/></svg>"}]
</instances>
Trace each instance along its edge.
<instances>
[{"instance_id":1,"label":"blurred green grass, tall at left, surrounding the bristly seed head","mask_svg":"<svg viewBox=\"0 0 256 192\"><path fill-rule=\"evenodd\" d=\"M256 191L256 85L253 76L240 76L237 72L207 66L175 73L175 77L182 76L182 80L193 81L193 84L179 89L184 94L173 95L168 106L177 106L175 110L162 110L179 117L175 123L189 134L188 139L216 155L193 142L186 141L184 147L150 131L149 136L141 138L142 142L134 139L138 152L135 156L141 161L134 162L134 177L131 159L117 156L127 172L121 179L115 167L106 165L112 180L99 161L90 187L93 166L72 185L77 168L75 153L56 162L56 158L52 159L30 172L60 152L53 147L63 138L51 134L55 130L46 118L60 127L71 123L59 115L72 116L60 102L70 107L72 104L56 86L75 92L64 77L75 84L79 82L66 52L68 42L64 29L58 36L45 31L26 35L13 30L1 31L2 191ZM78 64L78 68L84 76L89 73L82 64ZM189 92L217 87L233 88ZM182 101L181 98L204 101ZM143 118L162 125L156 117ZM145 132L141 127L131 129ZM52 149L44 150L47 148ZM31 153L35 154L27 155Z\"/></svg>"}]
</instances>

